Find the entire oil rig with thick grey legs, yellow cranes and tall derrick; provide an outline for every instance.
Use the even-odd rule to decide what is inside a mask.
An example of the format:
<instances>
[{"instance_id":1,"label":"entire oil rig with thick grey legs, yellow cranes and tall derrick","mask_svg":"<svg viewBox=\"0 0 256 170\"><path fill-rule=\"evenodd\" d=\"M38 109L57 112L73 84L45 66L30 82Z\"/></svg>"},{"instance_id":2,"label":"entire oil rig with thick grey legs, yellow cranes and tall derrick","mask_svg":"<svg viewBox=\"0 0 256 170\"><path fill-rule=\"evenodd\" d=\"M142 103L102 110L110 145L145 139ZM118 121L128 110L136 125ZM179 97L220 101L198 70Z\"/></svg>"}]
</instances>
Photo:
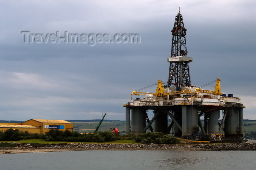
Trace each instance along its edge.
<instances>
[{"instance_id":1,"label":"entire oil rig with thick grey legs, yellow cranes and tall derrick","mask_svg":"<svg viewBox=\"0 0 256 170\"><path fill-rule=\"evenodd\" d=\"M124 104L126 134L163 132L193 140L237 139L243 137L243 109L240 98L222 94L220 79L216 79L215 91L191 85L186 31L182 15L176 15L172 29L172 50L167 85L158 80L155 93L133 91L131 95L143 95ZM153 110L153 118L148 118ZM222 113L222 118L221 117ZM168 124L168 119L172 120ZM203 122L202 122L203 121ZM154 122L154 128L153 128Z\"/></svg>"}]
</instances>

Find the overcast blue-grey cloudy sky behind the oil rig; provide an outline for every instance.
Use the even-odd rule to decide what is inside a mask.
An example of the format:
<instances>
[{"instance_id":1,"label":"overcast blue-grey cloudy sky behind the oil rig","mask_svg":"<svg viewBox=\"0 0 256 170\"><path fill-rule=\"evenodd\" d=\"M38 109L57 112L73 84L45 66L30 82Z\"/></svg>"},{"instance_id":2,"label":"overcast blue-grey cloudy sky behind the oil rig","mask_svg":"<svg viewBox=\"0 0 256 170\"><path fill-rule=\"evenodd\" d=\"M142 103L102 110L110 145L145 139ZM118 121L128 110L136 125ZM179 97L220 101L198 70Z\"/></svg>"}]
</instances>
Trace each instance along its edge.
<instances>
[{"instance_id":1,"label":"overcast blue-grey cloudy sky behind the oil rig","mask_svg":"<svg viewBox=\"0 0 256 170\"><path fill-rule=\"evenodd\" d=\"M167 82L181 8L191 83L221 78L256 119L256 1L1 1L0 120L125 120L131 92ZM24 42L24 34L139 34L140 43ZM214 90L215 84L204 87ZM151 87L145 92L155 92Z\"/></svg>"}]
</instances>

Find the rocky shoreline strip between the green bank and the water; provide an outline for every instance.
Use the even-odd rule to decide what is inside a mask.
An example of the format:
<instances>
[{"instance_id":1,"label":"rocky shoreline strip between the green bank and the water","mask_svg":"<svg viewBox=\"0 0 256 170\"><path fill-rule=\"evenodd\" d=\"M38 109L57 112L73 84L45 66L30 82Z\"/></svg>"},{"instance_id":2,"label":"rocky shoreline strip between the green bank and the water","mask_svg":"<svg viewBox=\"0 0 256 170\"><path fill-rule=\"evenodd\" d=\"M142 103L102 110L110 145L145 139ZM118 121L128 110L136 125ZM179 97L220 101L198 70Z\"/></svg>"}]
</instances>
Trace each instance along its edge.
<instances>
[{"instance_id":1,"label":"rocky shoreline strip between the green bank and the water","mask_svg":"<svg viewBox=\"0 0 256 170\"><path fill-rule=\"evenodd\" d=\"M12 143L12 147L0 147L0 154L80 150L191 150L191 151L255 151L256 143L221 144L25 144Z\"/></svg>"}]
</instances>

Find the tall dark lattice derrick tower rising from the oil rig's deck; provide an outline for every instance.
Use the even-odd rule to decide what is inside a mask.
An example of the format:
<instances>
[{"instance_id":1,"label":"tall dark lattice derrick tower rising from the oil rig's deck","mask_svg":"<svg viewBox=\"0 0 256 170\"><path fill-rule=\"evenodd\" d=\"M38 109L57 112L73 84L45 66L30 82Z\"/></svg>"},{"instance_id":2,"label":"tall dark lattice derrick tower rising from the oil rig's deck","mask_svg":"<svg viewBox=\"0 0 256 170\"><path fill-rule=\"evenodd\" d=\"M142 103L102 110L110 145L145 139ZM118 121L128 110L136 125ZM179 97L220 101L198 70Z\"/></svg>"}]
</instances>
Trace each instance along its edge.
<instances>
[{"instance_id":1,"label":"tall dark lattice derrick tower rising from the oil rig's deck","mask_svg":"<svg viewBox=\"0 0 256 170\"><path fill-rule=\"evenodd\" d=\"M192 58L188 57L186 46L186 31L183 23L182 15L179 12L176 15L174 26L172 29L172 52L167 58L170 63L168 87L190 87L191 80L189 74L188 63L192 62Z\"/></svg>"}]
</instances>

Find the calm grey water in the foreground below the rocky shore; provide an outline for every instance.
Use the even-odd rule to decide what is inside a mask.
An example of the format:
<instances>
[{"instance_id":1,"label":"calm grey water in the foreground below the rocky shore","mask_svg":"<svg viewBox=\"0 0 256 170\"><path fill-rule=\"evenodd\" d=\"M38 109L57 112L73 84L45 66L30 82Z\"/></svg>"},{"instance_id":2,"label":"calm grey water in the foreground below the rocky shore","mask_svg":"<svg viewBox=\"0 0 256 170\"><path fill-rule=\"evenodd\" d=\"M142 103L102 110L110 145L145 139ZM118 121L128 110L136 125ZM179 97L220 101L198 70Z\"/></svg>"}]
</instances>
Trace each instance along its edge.
<instances>
[{"instance_id":1,"label":"calm grey water in the foreground below the rocky shore","mask_svg":"<svg viewBox=\"0 0 256 170\"><path fill-rule=\"evenodd\" d=\"M0 155L1 170L255 170L256 151L67 151Z\"/></svg>"}]
</instances>

